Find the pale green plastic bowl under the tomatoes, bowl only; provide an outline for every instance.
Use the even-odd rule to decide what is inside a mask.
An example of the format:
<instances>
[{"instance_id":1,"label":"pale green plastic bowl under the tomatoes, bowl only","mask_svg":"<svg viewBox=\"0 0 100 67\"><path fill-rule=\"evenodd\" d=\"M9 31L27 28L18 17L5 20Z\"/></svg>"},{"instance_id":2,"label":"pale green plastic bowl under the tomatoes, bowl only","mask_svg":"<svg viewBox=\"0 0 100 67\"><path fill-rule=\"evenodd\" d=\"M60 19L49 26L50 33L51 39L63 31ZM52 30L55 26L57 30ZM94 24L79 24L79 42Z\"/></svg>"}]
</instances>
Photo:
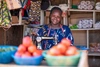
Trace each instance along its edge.
<instances>
[{"instance_id":1,"label":"pale green plastic bowl under the tomatoes, bowl only","mask_svg":"<svg viewBox=\"0 0 100 67\"><path fill-rule=\"evenodd\" d=\"M77 66L81 57L81 52L74 56L50 56L47 51L43 51L46 63L49 66Z\"/></svg>"}]
</instances>

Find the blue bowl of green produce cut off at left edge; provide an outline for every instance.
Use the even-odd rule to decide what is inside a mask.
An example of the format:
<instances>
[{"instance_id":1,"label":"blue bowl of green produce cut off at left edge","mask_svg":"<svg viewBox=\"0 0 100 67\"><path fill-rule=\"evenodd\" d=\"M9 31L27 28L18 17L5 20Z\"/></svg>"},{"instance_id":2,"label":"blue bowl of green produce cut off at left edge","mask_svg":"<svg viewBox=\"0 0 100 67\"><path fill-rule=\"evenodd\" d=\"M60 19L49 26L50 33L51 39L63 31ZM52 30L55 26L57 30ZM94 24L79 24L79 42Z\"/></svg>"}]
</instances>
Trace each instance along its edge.
<instances>
[{"instance_id":1,"label":"blue bowl of green produce cut off at left edge","mask_svg":"<svg viewBox=\"0 0 100 67\"><path fill-rule=\"evenodd\" d=\"M0 63L8 64L13 62L12 54L17 51L16 46L1 45L0 46Z\"/></svg>"}]
</instances>

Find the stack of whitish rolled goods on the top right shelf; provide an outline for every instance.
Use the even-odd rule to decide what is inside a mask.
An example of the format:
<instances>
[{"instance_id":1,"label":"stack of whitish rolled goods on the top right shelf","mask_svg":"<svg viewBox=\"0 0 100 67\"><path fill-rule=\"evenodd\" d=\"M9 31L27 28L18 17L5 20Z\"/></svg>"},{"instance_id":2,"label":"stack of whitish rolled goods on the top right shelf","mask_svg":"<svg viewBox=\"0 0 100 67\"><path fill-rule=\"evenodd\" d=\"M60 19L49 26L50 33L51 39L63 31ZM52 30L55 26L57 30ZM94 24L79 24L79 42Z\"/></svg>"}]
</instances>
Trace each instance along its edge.
<instances>
[{"instance_id":1,"label":"stack of whitish rolled goods on the top right shelf","mask_svg":"<svg viewBox=\"0 0 100 67\"><path fill-rule=\"evenodd\" d=\"M92 10L93 7L94 7L93 1L81 1L80 4L78 5L78 9L82 10Z\"/></svg>"}]
</instances>

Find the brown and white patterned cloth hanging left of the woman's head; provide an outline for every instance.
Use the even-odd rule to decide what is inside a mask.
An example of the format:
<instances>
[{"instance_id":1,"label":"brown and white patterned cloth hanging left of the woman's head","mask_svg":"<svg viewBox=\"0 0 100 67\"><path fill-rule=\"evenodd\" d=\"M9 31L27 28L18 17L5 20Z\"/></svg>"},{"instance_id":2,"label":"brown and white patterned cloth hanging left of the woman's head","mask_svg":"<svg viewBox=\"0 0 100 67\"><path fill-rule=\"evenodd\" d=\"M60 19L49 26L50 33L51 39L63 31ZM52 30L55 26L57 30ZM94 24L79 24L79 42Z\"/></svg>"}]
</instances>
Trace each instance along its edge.
<instances>
[{"instance_id":1,"label":"brown and white patterned cloth hanging left of the woman's head","mask_svg":"<svg viewBox=\"0 0 100 67\"><path fill-rule=\"evenodd\" d=\"M29 9L29 21L40 22L41 0L32 1Z\"/></svg>"}]
</instances>

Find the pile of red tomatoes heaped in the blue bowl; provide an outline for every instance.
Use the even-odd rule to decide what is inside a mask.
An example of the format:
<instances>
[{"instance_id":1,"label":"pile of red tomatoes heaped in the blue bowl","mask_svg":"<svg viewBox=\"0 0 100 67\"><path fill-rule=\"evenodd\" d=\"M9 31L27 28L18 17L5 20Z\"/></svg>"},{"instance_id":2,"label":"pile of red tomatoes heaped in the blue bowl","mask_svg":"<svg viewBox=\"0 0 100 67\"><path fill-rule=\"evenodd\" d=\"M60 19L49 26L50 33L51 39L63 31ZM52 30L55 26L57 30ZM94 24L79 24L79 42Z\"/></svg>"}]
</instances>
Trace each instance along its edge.
<instances>
[{"instance_id":1,"label":"pile of red tomatoes heaped in the blue bowl","mask_svg":"<svg viewBox=\"0 0 100 67\"><path fill-rule=\"evenodd\" d=\"M15 56L18 57L34 57L40 55L42 55L42 50L37 49L29 36L23 38L22 44L18 46L18 50L15 53Z\"/></svg>"}]
</instances>

